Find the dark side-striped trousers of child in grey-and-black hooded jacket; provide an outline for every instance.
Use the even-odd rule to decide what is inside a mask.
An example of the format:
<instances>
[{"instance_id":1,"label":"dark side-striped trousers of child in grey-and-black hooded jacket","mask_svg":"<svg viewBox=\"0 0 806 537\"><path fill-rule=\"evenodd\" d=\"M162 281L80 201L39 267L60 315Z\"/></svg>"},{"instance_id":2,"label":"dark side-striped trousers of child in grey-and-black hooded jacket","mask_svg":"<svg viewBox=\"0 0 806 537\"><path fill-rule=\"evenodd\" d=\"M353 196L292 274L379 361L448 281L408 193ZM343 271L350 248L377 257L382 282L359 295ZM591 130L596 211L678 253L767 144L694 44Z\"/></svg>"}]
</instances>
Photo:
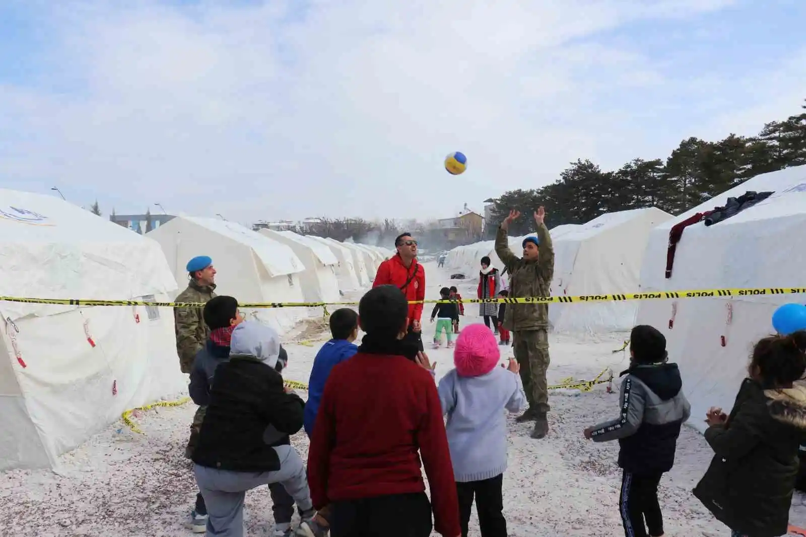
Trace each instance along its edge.
<instances>
[{"instance_id":1,"label":"dark side-striped trousers of child in grey-and-black hooded jacket","mask_svg":"<svg viewBox=\"0 0 806 537\"><path fill-rule=\"evenodd\" d=\"M663 514L658 502L658 484L662 476L662 473L638 475L624 471L618 506L626 537L663 535Z\"/></svg>"}]
</instances>

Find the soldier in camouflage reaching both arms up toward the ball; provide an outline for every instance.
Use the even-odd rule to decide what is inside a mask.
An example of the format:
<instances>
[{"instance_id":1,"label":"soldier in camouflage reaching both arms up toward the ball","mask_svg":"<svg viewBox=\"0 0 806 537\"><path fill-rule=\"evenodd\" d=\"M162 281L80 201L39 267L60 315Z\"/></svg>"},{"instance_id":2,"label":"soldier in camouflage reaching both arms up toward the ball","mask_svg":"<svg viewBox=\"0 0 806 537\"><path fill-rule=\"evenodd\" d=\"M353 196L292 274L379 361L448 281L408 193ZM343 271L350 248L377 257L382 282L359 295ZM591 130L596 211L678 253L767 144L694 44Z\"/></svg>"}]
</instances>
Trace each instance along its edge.
<instances>
[{"instance_id":1,"label":"soldier in camouflage reaching both arms up toward the ball","mask_svg":"<svg viewBox=\"0 0 806 537\"><path fill-rule=\"evenodd\" d=\"M509 296L548 297L551 278L554 277L554 248L548 228L543 223L546 210L542 207L534 213L537 237L523 240L523 257L519 258L509 249L507 230L509 223L520 216L516 210L501 223L496 235L496 254L509 273ZM529 401L529 409L517 418L518 422L534 420L532 438L548 434L546 414L550 410L546 369L549 367L549 306L548 304L510 304L506 308L504 327L513 332L515 358L521 365L521 381Z\"/></svg>"}]
</instances>

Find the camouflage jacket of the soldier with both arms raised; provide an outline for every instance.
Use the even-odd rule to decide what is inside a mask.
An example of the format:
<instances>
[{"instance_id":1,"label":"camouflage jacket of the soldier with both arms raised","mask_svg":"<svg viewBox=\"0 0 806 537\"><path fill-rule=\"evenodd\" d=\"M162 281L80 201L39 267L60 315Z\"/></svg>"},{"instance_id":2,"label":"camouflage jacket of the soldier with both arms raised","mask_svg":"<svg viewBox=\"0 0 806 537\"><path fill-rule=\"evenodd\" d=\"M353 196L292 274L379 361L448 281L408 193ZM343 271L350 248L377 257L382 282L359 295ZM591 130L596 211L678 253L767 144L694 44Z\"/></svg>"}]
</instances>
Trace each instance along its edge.
<instances>
[{"instance_id":1,"label":"camouflage jacket of the soldier with both arms raised","mask_svg":"<svg viewBox=\"0 0 806 537\"><path fill-rule=\"evenodd\" d=\"M496 254L509 273L509 297L549 297L554 277L554 246L545 225L538 226L540 256L536 261L522 260L509 249L506 231L498 228ZM548 304L509 304L504 316L507 330L538 330L549 326Z\"/></svg>"}]
</instances>

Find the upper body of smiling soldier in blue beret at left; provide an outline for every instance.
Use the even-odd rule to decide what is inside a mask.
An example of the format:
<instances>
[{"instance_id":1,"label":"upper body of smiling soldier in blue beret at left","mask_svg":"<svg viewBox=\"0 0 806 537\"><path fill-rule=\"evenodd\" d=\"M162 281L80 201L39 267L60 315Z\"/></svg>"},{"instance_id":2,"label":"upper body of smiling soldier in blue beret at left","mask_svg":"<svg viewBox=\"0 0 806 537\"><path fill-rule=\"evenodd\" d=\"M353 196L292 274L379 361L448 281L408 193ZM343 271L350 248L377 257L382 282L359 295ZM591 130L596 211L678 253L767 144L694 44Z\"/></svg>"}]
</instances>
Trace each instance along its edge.
<instances>
[{"instance_id":1,"label":"upper body of smiling soldier in blue beret at left","mask_svg":"<svg viewBox=\"0 0 806 537\"><path fill-rule=\"evenodd\" d=\"M188 288L179 293L174 302L198 302L206 304L215 296L215 269L213 260L207 256L193 257L187 270L190 275ZM173 319L177 332L177 353L182 373L190 373L193 358L207 343L210 329L204 323L203 307L174 308Z\"/></svg>"}]
</instances>

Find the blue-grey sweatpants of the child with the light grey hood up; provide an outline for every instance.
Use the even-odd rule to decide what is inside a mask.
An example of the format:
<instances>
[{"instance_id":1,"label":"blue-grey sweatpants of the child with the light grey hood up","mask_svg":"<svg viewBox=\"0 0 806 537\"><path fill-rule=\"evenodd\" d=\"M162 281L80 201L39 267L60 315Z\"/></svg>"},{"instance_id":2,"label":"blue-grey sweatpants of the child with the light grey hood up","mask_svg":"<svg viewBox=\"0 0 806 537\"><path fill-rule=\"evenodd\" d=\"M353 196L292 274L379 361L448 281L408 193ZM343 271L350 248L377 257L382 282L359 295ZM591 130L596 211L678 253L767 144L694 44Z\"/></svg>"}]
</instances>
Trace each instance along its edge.
<instances>
[{"instance_id":1,"label":"blue-grey sweatpants of the child with the light grey hood up","mask_svg":"<svg viewBox=\"0 0 806 537\"><path fill-rule=\"evenodd\" d=\"M208 537L243 537L243 499L247 490L280 483L302 511L313 509L305 464L291 446L273 448L280 458L276 472L231 472L193 465L196 483L207 506Z\"/></svg>"}]
</instances>

